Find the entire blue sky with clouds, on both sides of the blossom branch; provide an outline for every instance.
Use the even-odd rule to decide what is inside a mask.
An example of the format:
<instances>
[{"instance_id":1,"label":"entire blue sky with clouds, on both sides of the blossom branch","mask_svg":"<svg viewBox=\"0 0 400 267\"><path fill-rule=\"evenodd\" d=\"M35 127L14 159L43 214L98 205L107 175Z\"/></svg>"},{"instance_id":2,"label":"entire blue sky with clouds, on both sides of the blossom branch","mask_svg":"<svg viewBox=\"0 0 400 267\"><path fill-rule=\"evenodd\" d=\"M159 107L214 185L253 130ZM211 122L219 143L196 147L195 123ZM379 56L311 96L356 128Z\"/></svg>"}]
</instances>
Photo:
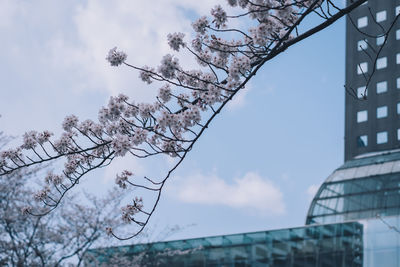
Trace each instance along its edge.
<instances>
[{"instance_id":1,"label":"entire blue sky with clouds, on both sides of the blossom branch","mask_svg":"<svg viewBox=\"0 0 400 267\"><path fill-rule=\"evenodd\" d=\"M151 100L154 87L110 67L108 50L156 66L171 53L168 33L189 35L193 16L224 1L138 3L0 1L0 129L59 133L66 115L94 119L111 95ZM192 225L172 239L303 225L313 192L343 162L344 32L341 20L266 64L171 177L151 224ZM120 160L84 186L101 194L121 169L168 164Z\"/></svg>"}]
</instances>

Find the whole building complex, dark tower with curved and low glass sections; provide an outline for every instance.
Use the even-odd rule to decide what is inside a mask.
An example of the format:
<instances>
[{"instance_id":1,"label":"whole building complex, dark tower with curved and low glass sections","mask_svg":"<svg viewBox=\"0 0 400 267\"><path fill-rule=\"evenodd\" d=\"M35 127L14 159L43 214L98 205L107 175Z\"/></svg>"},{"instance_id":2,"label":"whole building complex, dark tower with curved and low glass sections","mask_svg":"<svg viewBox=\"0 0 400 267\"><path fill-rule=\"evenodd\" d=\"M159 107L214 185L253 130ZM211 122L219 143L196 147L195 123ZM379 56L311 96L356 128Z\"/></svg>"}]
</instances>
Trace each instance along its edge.
<instances>
[{"instance_id":1,"label":"whole building complex, dark tower with curved and low glass sections","mask_svg":"<svg viewBox=\"0 0 400 267\"><path fill-rule=\"evenodd\" d=\"M356 95L346 93L345 163L319 188L305 226L92 249L85 265L400 267L400 22L376 64L366 53L384 42L378 23L399 13L400 0L370 0L347 18L346 87Z\"/></svg>"}]
</instances>

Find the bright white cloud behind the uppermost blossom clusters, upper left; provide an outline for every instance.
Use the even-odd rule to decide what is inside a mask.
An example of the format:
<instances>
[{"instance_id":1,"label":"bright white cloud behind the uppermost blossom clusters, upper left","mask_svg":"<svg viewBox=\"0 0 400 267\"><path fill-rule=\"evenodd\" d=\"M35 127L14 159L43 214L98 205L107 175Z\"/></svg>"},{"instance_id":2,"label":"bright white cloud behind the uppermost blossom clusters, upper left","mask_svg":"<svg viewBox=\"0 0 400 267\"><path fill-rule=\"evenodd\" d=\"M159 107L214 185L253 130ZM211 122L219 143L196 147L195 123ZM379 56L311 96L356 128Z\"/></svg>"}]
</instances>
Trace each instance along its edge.
<instances>
[{"instance_id":1,"label":"bright white cloud behind the uppermost blossom clusters, upper left","mask_svg":"<svg viewBox=\"0 0 400 267\"><path fill-rule=\"evenodd\" d=\"M212 6L212 1L200 5L194 0L141 1L140 4L129 0L88 0L75 7L72 14L76 39L71 41L61 30L49 41L49 50L54 65L84 73L84 82L79 87L106 90L113 95L124 92L149 101L158 85L142 83L135 70L108 66L104 59L106 53L117 46L127 52L129 63L157 66L163 55L173 52L167 44L168 33L184 32L190 38L191 18L187 11L205 12ZM180 61L184 66L192 65L188 57Z\"/></svg>"}]
</instances>

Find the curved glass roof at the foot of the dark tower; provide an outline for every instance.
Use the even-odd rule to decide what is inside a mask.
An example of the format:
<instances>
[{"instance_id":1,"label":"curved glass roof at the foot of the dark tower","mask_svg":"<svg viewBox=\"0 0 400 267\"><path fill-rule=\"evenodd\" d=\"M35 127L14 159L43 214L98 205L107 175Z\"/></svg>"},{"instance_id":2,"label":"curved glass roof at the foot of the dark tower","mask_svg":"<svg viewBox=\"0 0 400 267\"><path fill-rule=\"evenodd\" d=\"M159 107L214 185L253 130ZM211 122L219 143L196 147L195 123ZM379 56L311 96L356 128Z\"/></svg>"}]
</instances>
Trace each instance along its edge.
<instances>
[{"instance_id":1,"label":"curved glass roof at the foot of the dark tower","mask_svg":"<svg viewBox=\"0 0 400 267\"><path fill-rule=\"evenodd\" d=\"M400 214L400 151L345 162L321 185L306 224L334 223Z\"/></svg>"}]
</instances>

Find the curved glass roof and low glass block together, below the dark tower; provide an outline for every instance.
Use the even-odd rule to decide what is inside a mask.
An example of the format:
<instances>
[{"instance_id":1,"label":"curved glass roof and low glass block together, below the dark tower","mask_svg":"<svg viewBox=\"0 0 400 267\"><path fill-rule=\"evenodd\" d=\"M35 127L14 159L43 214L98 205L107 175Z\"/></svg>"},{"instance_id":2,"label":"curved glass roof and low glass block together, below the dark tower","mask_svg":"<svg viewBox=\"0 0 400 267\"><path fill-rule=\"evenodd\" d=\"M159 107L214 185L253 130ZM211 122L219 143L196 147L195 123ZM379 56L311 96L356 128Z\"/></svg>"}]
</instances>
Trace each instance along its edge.
<instances>
[{"instance_id":1,"label":"curved glass roof and low glass block together, below the dark tower","mask_svg":"<svg viewBox=\"0 0 400 267\"><path fill-rule=\"evenodd\" d=\"M304 227L92 249L85 266L400 267L399 229L397 150L335 170Z\"/></svg>"}]
</instances>

